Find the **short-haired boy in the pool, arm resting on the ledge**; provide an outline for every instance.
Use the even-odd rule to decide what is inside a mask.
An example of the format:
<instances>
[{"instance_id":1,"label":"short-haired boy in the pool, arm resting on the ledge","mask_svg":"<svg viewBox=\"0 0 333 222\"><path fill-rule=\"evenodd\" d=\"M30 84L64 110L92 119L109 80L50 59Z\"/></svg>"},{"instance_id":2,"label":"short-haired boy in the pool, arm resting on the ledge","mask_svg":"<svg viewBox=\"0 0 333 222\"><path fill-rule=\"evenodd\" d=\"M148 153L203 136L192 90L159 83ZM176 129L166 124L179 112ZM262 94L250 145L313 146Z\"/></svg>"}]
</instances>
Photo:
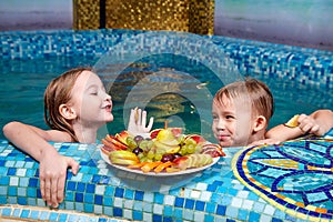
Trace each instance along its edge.
<instances>
[{"instance_id":1,"label":"short-haired boy in the pool, arm resting on the ledge","mask_svg":"<svg viewBox=\"0 0 333 222\"><path fill-rule=\"evenodd\" d=\"M276 144L305 133L323 135L333 128L333 112L301 114L296 128L284 124L266 132L274 101L266 84L246 79L220 89L212 104L213 134L222 147Z\"/></svg>"}]
</instances>

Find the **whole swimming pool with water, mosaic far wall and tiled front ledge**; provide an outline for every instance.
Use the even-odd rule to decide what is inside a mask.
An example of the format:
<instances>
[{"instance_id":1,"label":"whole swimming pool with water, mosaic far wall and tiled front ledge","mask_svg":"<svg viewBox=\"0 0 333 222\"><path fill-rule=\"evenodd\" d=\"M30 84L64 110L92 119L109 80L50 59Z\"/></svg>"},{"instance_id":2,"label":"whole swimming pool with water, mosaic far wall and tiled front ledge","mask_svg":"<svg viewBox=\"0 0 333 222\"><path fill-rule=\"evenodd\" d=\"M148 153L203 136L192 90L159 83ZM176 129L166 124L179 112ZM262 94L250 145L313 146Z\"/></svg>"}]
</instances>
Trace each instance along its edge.
<instances>
[{"instance_id":1,"label":"whole swimming pool with water, mosaic far wall and tiled front ledge","mask_svg":"<svg viewBox=\"0 0 333 222\"><path fill-rule=\"evenodd\" d=\"M128 109L139 105L157 117L154 127L169 119L171 124L184 125L190 132L201 132L211 139L213 93L244 75L261 79L272 89L276 108L271 124L294 113L332 109L333 104L333 54L326 51L223 37L129 30L3 32L0 40L1 125L17 119L44 127L43 89L51 78L78 65L93 65L113 97L115 119L100 137L124 129ZM128 182L132 175L115 174L91 155L87 144L54 145L63 154L77 155L81 164L79 175L68 174L67 199L60 210L139 221L302 221L266 203L234 178L230 165L238 150L225 150L228 158L191 178L182 188L169 184L164 190L161 188L163 192L151 192ZM0 151L1 215L80 219L68 211L44 208L36 161L6 140L1 140ZM149 178L138 178L135 182L158 183ZM87 218L82 216L84 221Z\"/></svg>"}]
</instances>

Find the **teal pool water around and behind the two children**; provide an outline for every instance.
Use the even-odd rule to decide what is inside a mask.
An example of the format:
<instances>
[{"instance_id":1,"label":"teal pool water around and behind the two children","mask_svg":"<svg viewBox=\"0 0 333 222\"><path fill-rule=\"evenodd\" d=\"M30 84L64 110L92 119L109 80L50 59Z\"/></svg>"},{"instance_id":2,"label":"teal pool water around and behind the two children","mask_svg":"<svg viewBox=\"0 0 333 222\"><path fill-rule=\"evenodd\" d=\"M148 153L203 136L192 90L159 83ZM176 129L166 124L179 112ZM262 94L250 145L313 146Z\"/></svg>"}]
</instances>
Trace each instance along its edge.
<instances>
[{"instance_id":1,"label":"teal pool water around and behind the two children","mask_svg":"<svg viewBox=\"0 0 333 222\"><path fill-rule=\"evenodd\" d=\"M0 61L0 125L16 120L48 129L43 121L47 84L71 68L94 67L98 60L95 57L50 57ZM99 73L98 67L97 71ZM251 77L264 81L272 90L275 111L270 127L285 122L295 113L333 109L332 90L269 75ZM121 73L109 72L102 79L114 104L114 121L108 123L109 133L125 129L129 109L138 105L155 118L154 128L162 128L168 120L171 127L183 127L186 133L203 133L213 140L211 99L223 87L223 81L200 62L174 54L151 56L127 65ZM4 139L2 131L0 139Z\"/></svg>"}]
</instances>

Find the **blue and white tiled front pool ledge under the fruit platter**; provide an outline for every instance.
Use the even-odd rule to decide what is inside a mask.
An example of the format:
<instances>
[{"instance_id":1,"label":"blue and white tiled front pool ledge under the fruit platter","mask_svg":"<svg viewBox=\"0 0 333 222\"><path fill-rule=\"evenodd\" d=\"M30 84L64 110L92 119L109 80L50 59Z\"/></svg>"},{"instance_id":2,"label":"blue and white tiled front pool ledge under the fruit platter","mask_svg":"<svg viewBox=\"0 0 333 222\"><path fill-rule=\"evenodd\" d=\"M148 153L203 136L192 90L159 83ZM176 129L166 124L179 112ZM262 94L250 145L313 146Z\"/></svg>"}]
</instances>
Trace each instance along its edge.
<instances>
[{"instance_id":1,"label":"blue and white tiled front pool ledge under the fruit platter","mask_svg":"<svg viewBox=\"0 0 333 222\"><path fill-rule=\"evenodd\" d=\"M91 214L92 221L307 221L306 215L300 219L270 204L234 176L231 160L240 149L225 149L226 158L201 173L162 180L108 165L98 145L54 147L80 162L77 175L68 172L65 199L59 210L49 209L41 199L39 164L8 141L0 141L1 216L50 221L80 216L84 221Z\"/></svg>"}]
</instances>

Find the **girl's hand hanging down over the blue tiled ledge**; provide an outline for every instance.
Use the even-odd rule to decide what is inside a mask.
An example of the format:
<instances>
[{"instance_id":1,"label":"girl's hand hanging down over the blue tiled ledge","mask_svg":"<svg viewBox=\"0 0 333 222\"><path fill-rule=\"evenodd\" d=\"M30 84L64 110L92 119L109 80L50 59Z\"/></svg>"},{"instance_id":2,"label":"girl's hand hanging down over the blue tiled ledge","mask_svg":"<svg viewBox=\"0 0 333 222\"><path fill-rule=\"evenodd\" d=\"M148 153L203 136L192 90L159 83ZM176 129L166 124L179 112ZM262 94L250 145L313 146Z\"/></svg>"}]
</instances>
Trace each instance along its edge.
<instances>
[{"instance_id":1,"label":"girl's hand hanging down over the blue tiled ledge","mask_svg":"<svg viewBox=\"0 0 333 222\"><path fill-rule=\"evenodd\" d=\"M40 161L40 191L48 205L58 208L63 201L67 169L71 168L73 174L78 173L79 163L72 158L49 151Z\"/></svg>"}]
</instances>

